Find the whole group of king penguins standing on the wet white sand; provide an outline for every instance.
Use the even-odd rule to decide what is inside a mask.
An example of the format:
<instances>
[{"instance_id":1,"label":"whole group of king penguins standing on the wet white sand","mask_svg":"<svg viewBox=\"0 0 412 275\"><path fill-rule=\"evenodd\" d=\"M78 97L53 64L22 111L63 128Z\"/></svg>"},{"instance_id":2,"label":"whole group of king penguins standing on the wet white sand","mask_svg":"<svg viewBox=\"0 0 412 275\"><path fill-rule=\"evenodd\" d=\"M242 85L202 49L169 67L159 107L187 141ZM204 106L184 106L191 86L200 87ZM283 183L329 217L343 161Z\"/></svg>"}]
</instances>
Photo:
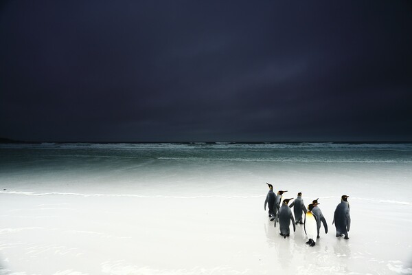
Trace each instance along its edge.
<instances>
[{"instance_id":1,"label":"whole group of king penguins standing on the wet white sand","mask_svg":"<svg viewBox=\"0 0 412 275\"><path fill-rule=\"evenodd\" d=\"M304 231L307 236L307 245L316 245L317 239L320 238L321 225L325 230L325 234L328 234L328 223L326 222L323 213L319 208L319 198L314 199L312 203L306 208L304 200L302 199L302 193L297 193L297 198L285 199L283 194L288 191L279 190L276 194L273 191L273 185L268 184L269 191L264 201L264 210L266 206L268 208L268 217L271 221L275 221L275 228L279 223L279 234L286 239L290 236L290 223L293 224L293 232L296 231L296 225L304 225ZM336 206L334 211L334 219L332 224L336 228L336 237L344 236L345 239L349 239L347 232L350 230L350 208L347 198L349 196L343 195L341 197L341 203ZM293 201L292 201L293 200ZM290 201L292 201L290 203ZM289 204L290 203L290 204ZM293 214L292 210L293 208ZM304 214L304 218L302 218Z\"/></svg>"}]
</instances>

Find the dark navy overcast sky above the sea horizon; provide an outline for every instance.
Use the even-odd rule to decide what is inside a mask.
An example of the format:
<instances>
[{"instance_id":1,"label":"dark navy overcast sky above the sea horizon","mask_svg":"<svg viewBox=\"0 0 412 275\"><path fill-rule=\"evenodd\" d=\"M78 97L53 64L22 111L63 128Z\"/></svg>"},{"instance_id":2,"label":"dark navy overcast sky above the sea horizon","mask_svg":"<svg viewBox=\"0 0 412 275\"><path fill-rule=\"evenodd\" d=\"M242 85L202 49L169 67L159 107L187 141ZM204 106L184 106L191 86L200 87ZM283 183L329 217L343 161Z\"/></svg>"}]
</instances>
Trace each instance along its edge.
<instances>
[{"instance_id":1,"label":"dark navy overcast sky above the sea horizon","mask_svg":"<svg viewBox=\"0 0 412 275\"><path fill-rule=\"evenodd\" d=\"M0 137L412 140L412 1L2 1Z\"/></svg>"}]
</instances>

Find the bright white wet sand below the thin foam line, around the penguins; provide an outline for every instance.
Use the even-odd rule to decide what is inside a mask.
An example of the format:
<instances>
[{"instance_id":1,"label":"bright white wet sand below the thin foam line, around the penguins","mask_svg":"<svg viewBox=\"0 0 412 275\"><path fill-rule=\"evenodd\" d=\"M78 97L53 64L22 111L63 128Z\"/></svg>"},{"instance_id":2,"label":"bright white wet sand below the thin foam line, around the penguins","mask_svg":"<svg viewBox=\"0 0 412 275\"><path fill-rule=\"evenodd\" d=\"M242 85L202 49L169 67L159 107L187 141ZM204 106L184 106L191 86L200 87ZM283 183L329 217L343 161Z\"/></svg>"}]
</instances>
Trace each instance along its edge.
<instances>
[{"instance_id":1,"label":"bright white wet sand below the thin foam line, around the penguins","mask_svg":"<svg viewBox=\"0 0 412 275\"><path fill-rule=\"evenodd\" d=\"M10 274L412 272L410 204L351 199L343 240L331 222L339 198L321 197L330 232L310 248L302 225L279 236L263 200L1 194L1 265Z\"/></svg>"}]
</instances>

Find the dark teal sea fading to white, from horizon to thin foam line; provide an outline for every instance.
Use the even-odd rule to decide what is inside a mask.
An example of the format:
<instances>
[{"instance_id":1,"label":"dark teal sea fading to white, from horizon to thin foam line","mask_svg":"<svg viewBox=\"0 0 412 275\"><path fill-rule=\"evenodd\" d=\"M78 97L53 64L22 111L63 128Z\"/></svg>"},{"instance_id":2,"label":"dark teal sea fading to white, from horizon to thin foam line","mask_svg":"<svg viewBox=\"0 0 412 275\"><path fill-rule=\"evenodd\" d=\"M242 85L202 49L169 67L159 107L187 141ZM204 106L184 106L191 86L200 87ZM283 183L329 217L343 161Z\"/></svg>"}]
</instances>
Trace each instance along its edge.
<instances>
[{"instance_id":1,"label":"dark teal sea fading to white, from horizon to thin foam line","mask_svg":"<svg viewBox=\"0 0 412 275\"><path fill-rule=\"evenodd\" d=\"M409 201L412 144L44 143L0 146L0 188L10 192L122 195L261 195L275 189ZM56 181L58 179L58 181ZM409 192L387 193L404 186ZM97 192L97 193L96 193ZM358 195L356 195L358 194ZM335 195L331 191L331 196Z\"/></svg>"}]
</instances>

